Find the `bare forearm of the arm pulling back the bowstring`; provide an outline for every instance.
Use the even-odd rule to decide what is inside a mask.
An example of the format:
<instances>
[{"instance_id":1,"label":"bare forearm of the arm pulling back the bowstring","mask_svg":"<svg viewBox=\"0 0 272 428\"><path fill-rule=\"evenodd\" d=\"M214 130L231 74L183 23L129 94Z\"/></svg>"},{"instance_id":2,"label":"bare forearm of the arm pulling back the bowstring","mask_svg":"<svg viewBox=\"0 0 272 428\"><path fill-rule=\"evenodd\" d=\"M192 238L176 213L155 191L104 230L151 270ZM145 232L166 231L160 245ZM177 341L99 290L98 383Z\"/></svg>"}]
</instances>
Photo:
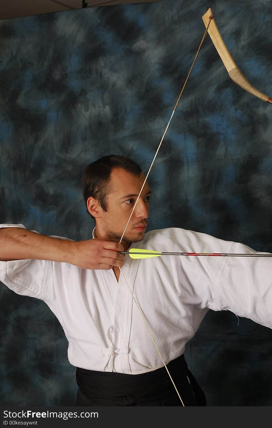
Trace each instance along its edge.
<instances>
[{"instance_id":1,"label":"bare forearm of the arm pulling back the bowstring","mask_svg":"<svg viewBox=\"0 0 272 428\"><path fill-rule=\"evenodd\" d=\"M74 241L51 238L21 227L0 229L0 261L37 259L69 262Z\"/></svg>"}]
</instances>

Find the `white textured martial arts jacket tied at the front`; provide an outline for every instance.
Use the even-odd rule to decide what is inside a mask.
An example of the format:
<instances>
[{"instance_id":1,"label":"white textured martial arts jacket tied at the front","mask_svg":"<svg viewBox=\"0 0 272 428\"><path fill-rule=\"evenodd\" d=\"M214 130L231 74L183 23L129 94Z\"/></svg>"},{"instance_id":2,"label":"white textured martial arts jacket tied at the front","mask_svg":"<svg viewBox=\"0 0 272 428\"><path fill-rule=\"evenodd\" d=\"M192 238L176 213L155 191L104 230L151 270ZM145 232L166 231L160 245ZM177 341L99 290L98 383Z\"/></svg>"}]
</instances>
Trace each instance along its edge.
<instances>
[{"instance_id":1,"label":"white textured martial arts jacket tied at the front","mask_svg":"<svg viewBox=\"0 0 272 428\"><path fill-rule=\"evenodd\" d=\"M22 224L0 227L26 229ZM147 232L132 247L256 253L243 244L178 228ZM270 258L161 256L135 260L126 255L122 271L165 363L183 353L209 309L230 310L272 328ZM122 274L117 283L112 269L16 260L0 262L0 281L15 293L36 297L49 306L68 339L68 360L73 366L132 375L163 366Z\"/></svg>"}]
</instances>

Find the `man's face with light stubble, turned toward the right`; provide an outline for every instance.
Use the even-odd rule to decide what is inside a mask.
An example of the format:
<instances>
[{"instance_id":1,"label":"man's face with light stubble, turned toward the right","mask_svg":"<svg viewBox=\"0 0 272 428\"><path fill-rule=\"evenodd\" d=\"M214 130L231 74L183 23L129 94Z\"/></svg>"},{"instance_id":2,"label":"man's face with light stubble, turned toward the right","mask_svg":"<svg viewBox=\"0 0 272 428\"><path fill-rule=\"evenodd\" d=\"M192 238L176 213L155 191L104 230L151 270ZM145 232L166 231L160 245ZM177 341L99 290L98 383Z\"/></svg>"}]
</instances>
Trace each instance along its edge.
<instances>
[{"instance_id":1,"label":"man's face with light stubble, turned toward the right","mask_svg":"<svg viewBox=\"0 0 272 428\"><path fill-rule=\"evenodd\" d=\"M108 210L102 211L101 217L96 218L100 235L107 236L111 241L120 241L144 180L143 174L137 177L123 168L112 170L111 186L113 190L108 193ZM129 220L123 241L142 241L149 214L150 193L151 190L146 181Z\"/></svg>"}]
</instances>

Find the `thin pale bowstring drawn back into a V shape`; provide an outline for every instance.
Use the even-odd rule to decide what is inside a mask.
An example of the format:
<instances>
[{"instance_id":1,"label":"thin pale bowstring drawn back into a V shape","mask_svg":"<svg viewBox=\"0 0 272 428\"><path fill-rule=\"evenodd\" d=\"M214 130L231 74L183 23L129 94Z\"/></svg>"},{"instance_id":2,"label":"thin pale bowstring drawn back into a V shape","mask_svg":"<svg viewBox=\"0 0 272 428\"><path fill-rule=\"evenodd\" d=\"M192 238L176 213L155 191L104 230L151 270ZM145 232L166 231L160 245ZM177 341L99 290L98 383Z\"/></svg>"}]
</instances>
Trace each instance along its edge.
<instances>
[{"instance_id":1,"label":"thin pale bowstring drawn back into a V shape","mask_svg":"<svg viewBox=\"0 0 272 428\"><path fill-rule=\"evenodd\" d=\"M212 15L211 15L211 16L209 16L209 24L210 24L210 22L212 21L212 19L213 19L213 16L212 16ZM152 163L151 163L151 165L150 165L150 167L149 167L149 170L148 170L148 172L147 172L147 174L146 174L146 178L145 178L145 180L143 181L142 188L141 188L140 193L139 193L139 195L138 195L138 197L137 197L137 199L136 199L136 202L135 202L135 205L134 205L134 207L133 207L133 209L132 209L132 212L131 212L131 214L130 214L130 216L129 216L129 220L128 220L128 222L126 223L126 227L125 227L125 230L124 230L124 232L123 232L123 235L121 236L121 239L120 239L120 241L119 241L119 244L121 244L121 241L122 241L122 239L123 239L123 237L124 237L124 235L125 235L126 229L127 229L128 225L129 225L129 221L130 221L130 219L131 219L131 217L132 217L132 214L133 214L133 212L134 212L134 210L135 210L136 204L137 204L137 202L138 202L138 200L139 200L139 198L140 198L140 195L141 195L141 193L142 193L143 187L144 187L144 185L146 184L146 180L147 180L147 178L148 178L148 176L149 176L149 172L151 171L151 168L152 168L152 166L153 166L153 163L155 162L155 159L156 159L156 157L157 157L157 155L158 155L158 151L159 151L159 149L160 149L160 147L161 147L161 143L163 142L164 136L165 136L165 134L167 133L167 129L168 129L168 127L169 127L169 125L170 125L170 122L171 122L171 120L172 120L172 117L173 117L173 115L174 115L174 113L175 113L176 107L177 107L177 105L179 104L180 97L181 97L181 95L182 95L182 93L183 93L183 91L184 91L184 88L185 88L185 86L186 86L186 83L187 83L187 81L188 81L188 78L189 78L189 76L190 76L190 74L191 74L192 68L194 67L194 63L196 62L196 59L197 59L198 53L199 53L199 51L200 51L200 48L201 48L201 46L203 45L203 42L204 42L204 40L205 40L205 37L206 37L206 35L207 35L207 33L208 33L209 24L208 24L208 25L207 25L207 27L206 27L206 30L205 30L204 35L203 35L203 37L202 37L202 40L201 40L201 42L200 42L199 48L198 48L198 50L197 50L196 56L195 56L195 58L194 58L194 61L193 61L192 65L191 65L191 68L190 68L190 71L189 71L189 73L188 73L188 76L186 77L185 83L184 83L184 85L183 85L183 87L182 87L182 90L181 90L181 92L180 92L180 94L179 94L179 98L178 98L178 100L176 101L176 105L175 105L175 107L174 107L173 113L171 114L170 119L169 119L169 122L167 123L167 127L166 127L166 129L165 129L165 131L164 131L164 134L163 134L163 136L162 136L162 138L161 138L161 141L160 141L160 143L159 143L159 145L158 145L158 149L157 149L157 151L156 151L156 153L155 153L155 156L154 156L154 158L153 158L153 160L152 160ZM182 398L181 398L181 396L179 395L179 392L178 392L178 390L177 390L177 388L176 388L176 385L175 385L175 383L174 383L174 381L173 381L173 379L172 379L172 377L171 377L171 375L170 375L170 373L169 373L169 370L167 369L167 366L166 366L166 364L164 363L164 360L163 360L163 358L162 358L162 356L161 356L161 353L160 353L160 351L159 351L159 349L158 349L158 346L157 346L157 344L156 344L156 342L155 342L155 339L153 338L152 333L151 333L151 331L149 330L149 327L148 327L148 325L147 325L147 323L146 323L146 320L145 320L145 318L144 318L144 316L143 316L143 313L142 313L142 311L140 310L140 307L139 307L139 305L138 305L138 303L137 303L137 301L136 301L136 299L135 299L135 297L134 297L134 295L133 295L133 292L132 292L131 288L129 287L129 284L128 284L128 282L127 282L127 280L126 280L126 278L125 278L125 276L124 276L124 274L123 274L123 272L122 272L122 269L121 269L121 268L119 268L119 269L120 269L120 272L122 273L123 278L125 279L126 285L127 285L127 286L128 286L128 288L129 288L129 291L130 291L130 293L131 293L131 295L132 295L132 298L133 298L133 300L135 301L135 304L136 304L136 306L137 306L137 309L138 309L138 311L140 312L141 317L143 318L143 322L144 322L144 324L146 325L146 328L147 328L147 330L148 330L148 332L149 332L149 335L151 336L152 342L154 343L155 348L157 349L158 354L159 354L159 356L161 357L161 361L162 361L162 362L163 362L163 364L164 364L164 367L165 367L165 369L166 369L166 371L167 371L167 373L168 373L168 375L169 375L169 377L170 377L170 380L171 380L171 382L173 383L174 388L176 389L177 395L179 396L179 399L180 399L180 401L182 402L182 406L183 406L183 407L185 407L185 405L184 405L184 403L183 403L183 401L182 401Z\"/></svg>"}]
</instances>

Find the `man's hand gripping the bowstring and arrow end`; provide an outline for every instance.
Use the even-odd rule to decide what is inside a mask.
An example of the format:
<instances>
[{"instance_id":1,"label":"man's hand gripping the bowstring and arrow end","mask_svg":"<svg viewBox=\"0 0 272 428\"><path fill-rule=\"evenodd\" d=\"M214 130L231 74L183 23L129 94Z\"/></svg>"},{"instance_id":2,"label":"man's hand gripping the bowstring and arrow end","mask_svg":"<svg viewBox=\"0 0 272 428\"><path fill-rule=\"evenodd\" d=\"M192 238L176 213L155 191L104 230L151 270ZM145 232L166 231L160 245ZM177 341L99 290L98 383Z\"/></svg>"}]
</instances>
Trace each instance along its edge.
<instances>
[{"instance_id":1,"label":"man's hand gripping the bowstring and arrow end","mask_svg":"<svg viewBox=\"0 0 272 428\"><path fill-rule=\"evenodd\" d=\"M69 257L71 265L83 269L110 270L113 266L122 268L125 256L122 244L118 242L88 239L87 241L73 242L74 248Z\"/></svg>"}]
</instances>

